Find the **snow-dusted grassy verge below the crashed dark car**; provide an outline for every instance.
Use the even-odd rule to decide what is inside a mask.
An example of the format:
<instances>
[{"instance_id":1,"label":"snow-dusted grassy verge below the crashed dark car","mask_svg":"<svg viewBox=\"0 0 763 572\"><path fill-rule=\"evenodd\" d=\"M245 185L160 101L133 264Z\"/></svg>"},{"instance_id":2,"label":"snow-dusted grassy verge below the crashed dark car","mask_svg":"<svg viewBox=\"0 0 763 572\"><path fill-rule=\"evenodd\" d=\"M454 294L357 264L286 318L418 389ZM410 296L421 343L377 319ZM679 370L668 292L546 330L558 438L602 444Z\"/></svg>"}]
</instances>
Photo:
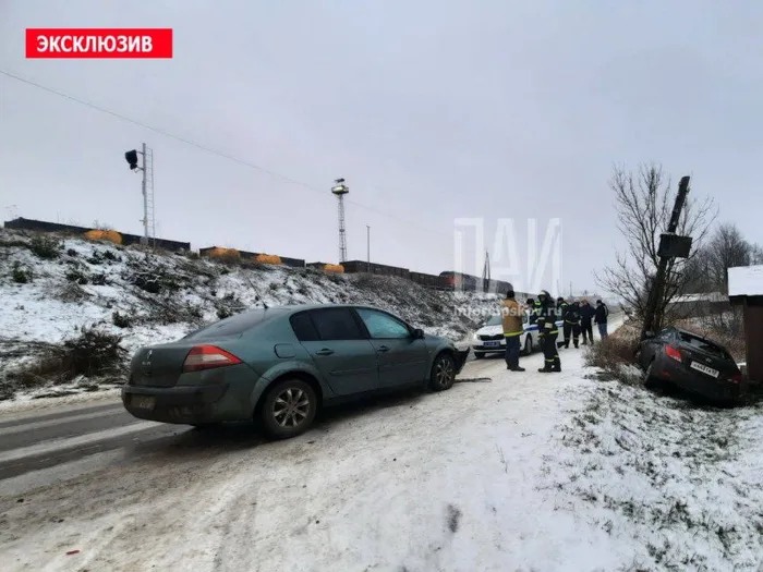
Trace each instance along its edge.
<instances>
[{"instance_id":1,"label":"snow-dusted grassy verge below the crashed dark car","mask_svg":"<svg viewBox=\"0 0 763 572\"><path fill-rule=\"evenodd\" d=\"M633 570L761 570L763 409L582 382L547 468L559 509L631 546Z\"/></svg>"}]
</instances>

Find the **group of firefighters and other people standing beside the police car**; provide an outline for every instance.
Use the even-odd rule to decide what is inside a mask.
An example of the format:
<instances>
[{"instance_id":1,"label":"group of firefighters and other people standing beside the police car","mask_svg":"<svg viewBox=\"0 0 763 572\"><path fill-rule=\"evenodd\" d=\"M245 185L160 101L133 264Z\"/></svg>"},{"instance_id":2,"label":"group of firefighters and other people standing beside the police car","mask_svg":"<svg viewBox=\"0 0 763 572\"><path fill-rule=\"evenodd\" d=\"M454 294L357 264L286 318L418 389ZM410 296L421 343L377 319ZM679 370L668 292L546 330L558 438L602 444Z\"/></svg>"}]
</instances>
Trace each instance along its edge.
<instances>
[{"instance_id":1,"label":"group of firefighters and other people standing beside the police car","mask_svg":"<svg viewBox=\"0 0 763 572\"><path fill-rule=\"evenodd\" d=\"M592 306L588 299L566 301L559 296L554 299L548 291L543 290L537 300L528 299L524 304L517 301L513 290L506 293L501 303L504 337L506 338L506 367L511 372L524 372L519 365L520 337L524 332L522 316L530 311L530 324L536 324L538 341L543 349L545 363L541 373L561 372L559 348L569 348L570 339L576 348L580 345L580 334L583 334L583 345L593 344L593 325L598 327L602 339L607 337L607 318L609 308L601 300ZM557 341L559 328L557 321L562 321L564 341Z\"/></svg>"}]
</instances>

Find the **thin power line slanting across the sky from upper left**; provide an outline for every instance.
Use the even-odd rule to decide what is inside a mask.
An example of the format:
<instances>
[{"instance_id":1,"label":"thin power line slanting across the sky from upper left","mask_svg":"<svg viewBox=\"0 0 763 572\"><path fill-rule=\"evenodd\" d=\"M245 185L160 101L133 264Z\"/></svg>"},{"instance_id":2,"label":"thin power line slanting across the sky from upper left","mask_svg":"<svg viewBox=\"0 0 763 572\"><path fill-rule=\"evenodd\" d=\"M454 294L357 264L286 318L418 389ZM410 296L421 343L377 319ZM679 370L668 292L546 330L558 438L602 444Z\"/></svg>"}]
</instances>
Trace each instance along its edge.
<instances>
[{"instance_id":1,"label":"thin power line slanting across the sky from upper left","mask_svg":"<svg viewBox=\"0 0 763 572\"><path fill-rule=\"evenodd\" d=\"M313 191L313 192L316 192L316 193L320 193L322 195L328 194L327 191L323 191L322 188L318 188L318 187L316 187L316 186L313 186L313 185L311 185L311 184L308 184L308 183L305 183L305 182L303 182L303 181L298 181L296 179L292 179L291 177L288 177L288 175L281 174L281 173L279 173L279 172L272 171L272 170L270 170L270 169L267 169L267 168L262 167L262 166L259 166L259 165L256 165L256 163L254 163L254 162L251 162L251 161L247 161L247 160L244 160L244 159L240 159L239 157L234 157L233 155L229 155L229 154L227 154L227 153L223 153L223 151L214 149L214 148L211 148L211 147L207 147L206 145L202 145L201 143L197 143L197 142L195 142L195 141L192 141L192 139L182 137L182 136L180 136L180 135L175 135L174 133L170 133L169 131L166 131L166 130L164 130L164 129L161 129L161 127L155 127L155 126L149 125L149 124L147 124L147 123L144 123L144 122L142 122L142 121L140 121L140 120L136 120L136 119L133 119L133 118L129 118L129 117L126 117L126 115L124 115L124 114L122 114L122 113L118 113L117 111L112 111L112 110L110 110L110 109L107 109L107 108L105 108L105 107L98 106L98 105L96 105L96 104L92 104L90 101L85 101L84 99L80 99L80 98L77 98L77 97L74 97L74 96L72 96L72 95L65 94L65 93L63 93L63 92L59 92L58 89L53 89L52 87L48 87L48 86L43 85L43 84L39 84L39 83L37 83L37 82L33 82L32 80L27 80L26 77L22 77L21 75L17 75L17 74L8 72L8 71L5 71L5 70L0 70L0 74L4 75L4 76L7 76L7 77L10 77L11 80L15 80L15 81L17 81L17 82L21 82L21 83L23 83L23 84L27 84L27 85L31 85L31 86L33 86L33 87L37 87L38 89L43 89L44 92L48 92L49 94L57 95L57 96L59 96L59 97L62 97L62 98L64 98L64 99L68 99L68 100L73 101L73 102L75 102L75 104L78 104L78 105L81 105L81 106L85 106L85 107L87 107L87 108L89 108L89 109L93 109L93 110L96 110L96 111L100 111L101 113L106 113L106 114L111 115L111 117L113 117L113 118L117 118L117 119L119 119L119 120L121 120L121 121L125 121L125 122L128 122L128 123L132 123L133 125L137 125L137 126L140 126L140 127L145 129L145 130L153 131L154 133L157 133L157 134L159 134L159 135L164 135L165 137L169 137L169 138L171 138L171 139L175 139L175 141L178 141L178 142L180 142L180 143L184 143L185 145L190 145L190 146L195 147L195 148L197 148L197 149L199 149L199 150L203 150L203 151L205 151L205 153L209 153L209 154L211 154L211 155L216 155L216 156L221 157L221 158L223 158L223 159L228 159L229 161L233 161L233 162L239 163L239 165L242 165L242 166L244 166L244 167L249 167L250 169L255 169L255 170L261 171L261 172L263 172L263 173L266 173L266 174L268 174L268 175L270 175L270 177L272 177L272 178L275 178L275 179L280 179L281 181L284 181L284 182L287 182L287 183L291 183L291 184L294 184L294 185L298 185L298 186L302 186L302 187L307 188L307 190L310 190L310 191ZM411 227L413 227L413 228L415 228L416 230L420 230L420 231L423 231L423 232L428 232L428 233L432 233L432 234L441 234L443 236L446 236L446 235L447 235L448 238L451 238L451 236L450 236L449 234L447 234L447 233L444 233L444 232L440 232L440 231L435 231L435 230L425 229L425 228L421 227L421 226L417 224L417 223L414 223L414 222L409 221L409 220L405 220L405 219L401 219L400 217L396 217L395 215L390 215L390 214L388 214L388 212L383 212L383 211L377 210L377 209L375 209L375 208L373 208L373 207L365 206L365 205L363 205L363 204L361 204L361 203L356 203L356 202L350 200L350 199L348 199L347 202L350 203L350 204L352 204L352 205L354 205L354 206L356 206L356 207L359 207L359 208L362 208L362 209L364 209L364 210L367 210L368 212L374 212L374 214L376 214L376 215L380 215L380 216L383 216L383 217L387 217L387 218L389 218L389 219L391 219L391 220L395 220L395 221L397 221L397 222L400 222L400 223L402 223L402 224L405 224L405 227L409 228L409 229L410 229Z\"/></svg>"}]
</instances>

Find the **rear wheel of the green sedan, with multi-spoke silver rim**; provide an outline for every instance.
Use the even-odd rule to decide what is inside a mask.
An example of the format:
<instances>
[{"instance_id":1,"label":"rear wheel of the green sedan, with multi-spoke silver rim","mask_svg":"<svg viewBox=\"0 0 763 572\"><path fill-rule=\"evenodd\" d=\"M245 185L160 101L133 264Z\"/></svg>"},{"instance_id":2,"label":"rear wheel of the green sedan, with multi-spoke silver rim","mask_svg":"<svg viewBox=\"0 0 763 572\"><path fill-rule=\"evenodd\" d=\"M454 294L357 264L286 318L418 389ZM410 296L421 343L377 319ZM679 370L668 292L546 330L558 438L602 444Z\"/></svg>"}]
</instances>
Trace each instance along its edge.
<instances>
[{"instance_id":1,"label":"rear wheel of the green sedan, with multi-spoke silver rim","mask_svg":"<svg viewBox=\"0 0 763 572\"><path fill-rule=\"evenodd\" d=\"M302 379L283 379L268 388L259 411L263 429L271 439L291 439L306 431L318 410L313 387Z\"/></svg>"}]
</instances>

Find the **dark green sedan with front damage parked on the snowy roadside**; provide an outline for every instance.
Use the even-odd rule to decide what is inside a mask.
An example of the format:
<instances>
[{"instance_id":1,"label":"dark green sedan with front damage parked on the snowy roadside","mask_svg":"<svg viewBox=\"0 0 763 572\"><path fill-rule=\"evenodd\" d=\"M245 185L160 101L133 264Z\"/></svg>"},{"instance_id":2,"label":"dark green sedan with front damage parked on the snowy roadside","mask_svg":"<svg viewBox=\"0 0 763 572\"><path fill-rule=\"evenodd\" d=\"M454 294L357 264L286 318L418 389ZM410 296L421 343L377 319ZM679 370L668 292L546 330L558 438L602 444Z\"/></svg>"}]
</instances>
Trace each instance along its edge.
<instances>
[{"instance_id":1,"label":"dark green sedan with front damage parked on the snowy roadside","mask_svg":"<svg viewBox=\"0 0 763 572\"><path fill-rule=\"evenodd\" d=\"M319 407L410 386L450 389L469 350L368 306L253 309L138 350L122 402L135 417L304 433Z\"/></svg>"}]
</instances>

